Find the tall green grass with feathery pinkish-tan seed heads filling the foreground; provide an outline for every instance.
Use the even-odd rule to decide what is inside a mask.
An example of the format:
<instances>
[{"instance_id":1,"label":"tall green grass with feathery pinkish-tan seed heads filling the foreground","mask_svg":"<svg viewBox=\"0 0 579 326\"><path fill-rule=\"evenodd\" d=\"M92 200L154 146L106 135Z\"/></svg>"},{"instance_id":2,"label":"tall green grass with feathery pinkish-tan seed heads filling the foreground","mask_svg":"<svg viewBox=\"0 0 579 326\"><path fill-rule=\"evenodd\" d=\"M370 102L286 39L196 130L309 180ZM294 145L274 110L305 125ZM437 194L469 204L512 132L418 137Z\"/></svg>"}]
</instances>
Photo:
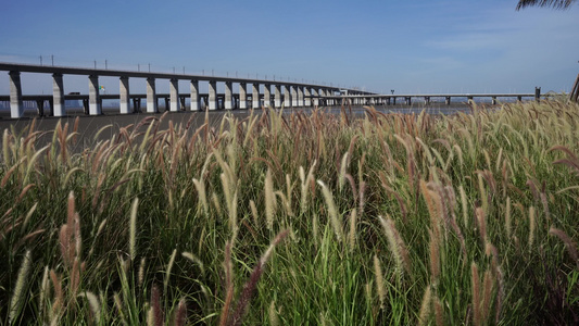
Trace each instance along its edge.
<instances>
[{"instance_id":1,"label":"tall green grass with feathery pinkish-tan seed heads filling the foreground","mask_svg":"<svg viewBox=\"0 0 579 326\"><path fill-rule=\"evenodd\" d=\"M1 130L0 324L579 323L577 104L164 118Z\"/></svg>"}]
</instances>

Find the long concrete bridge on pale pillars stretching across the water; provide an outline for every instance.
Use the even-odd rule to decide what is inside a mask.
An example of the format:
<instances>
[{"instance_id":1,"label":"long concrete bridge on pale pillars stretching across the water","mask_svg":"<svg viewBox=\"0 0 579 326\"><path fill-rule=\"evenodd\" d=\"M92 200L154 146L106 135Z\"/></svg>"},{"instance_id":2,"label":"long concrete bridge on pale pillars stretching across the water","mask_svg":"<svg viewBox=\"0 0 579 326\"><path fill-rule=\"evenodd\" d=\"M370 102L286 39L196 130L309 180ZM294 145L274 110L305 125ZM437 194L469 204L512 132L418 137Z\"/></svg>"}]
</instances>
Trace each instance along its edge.
<instances>
[{"instance_id":1,"label":"long concrete bridge on pale pillars stretching across the water","mask_svg":"<svg viewBox=\"0 0 579 326\"><path fill-rule=\"evenodd\" d=\"M217 77L205 75L151 73L135 71L117 71L102 68L84 68L66 66L47 66L17 63L1 63L0 71L9 72L10 96L0 96L0 102L10 101L10 115L12 118L20 118L24 115L24 102L37 103L40 115L45 114L45 103L49 103L49 115L65 116L66 100L83 101L86 114L102 114L103 99L119 100L119 113L129 114L141 112L141 100L147 100L147 112L159 112L159 99L165 99L165 108L169 111L185 111L186 99L190 99L190 111L199 111L202 105L209 110L231 110L253 109L263 106L274 108L307 108L318 105L337 104L395 104L397 99L403 99L405 104L412 104L413 98L421 98L428 104L431 98L444 98L445 103L451 103L451 98L492 98L495 103L496 98L540 98L540 88L534 93L481 93L481 95L379 95L358 89L337 88L307 83L292 83L282 80L269 80L259 78ZM53 79L53 93L50 95L24 95L22 91L21 73L51 74ZM88 95L67 93L64 91L63 75L88 76ZM99 77L118 77L119 93L104 95L99 91ZM146 78L147 93L130 93L129 78ZM155 80L168 79L169 93L156 93ZM179 93L178 82L189 80L190 92ZM209 83L209 92L199 91L199 83ZM217 93L217 83L225 84L225 93ZM234 83L239 85L239 91L234 93ZM251 92L248 92L248 84L252 85ZM273 93L272 93L273 87ZM263 91L261 91L263 89Z\"/></svg>"}]
</instances>

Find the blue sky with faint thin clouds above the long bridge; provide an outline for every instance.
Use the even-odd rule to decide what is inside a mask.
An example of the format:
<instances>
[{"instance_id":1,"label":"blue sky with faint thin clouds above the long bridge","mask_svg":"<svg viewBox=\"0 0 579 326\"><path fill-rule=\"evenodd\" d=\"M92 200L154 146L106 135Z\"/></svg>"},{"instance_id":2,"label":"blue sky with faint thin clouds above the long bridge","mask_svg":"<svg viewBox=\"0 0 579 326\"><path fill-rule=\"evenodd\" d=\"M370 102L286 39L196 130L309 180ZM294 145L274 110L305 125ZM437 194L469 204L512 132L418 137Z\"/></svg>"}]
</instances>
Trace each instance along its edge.
<instances>
[{"instance_id":1,"label":"blue sky with faint thin clouds above the long bridge","mask_svg":"<svg viewBox=\"0 0 579 326\"><path fill-rule=\"evenodd\" d=\"M9 62L40 63L42 55L50 64L53 55L55 65L150 63L151 71L275 75L397 93L569 91L579 73L579 4L518 12L516 0L0 4L0 61ZM8 73L0 74L8 95ZM65 91L71 83L88 91L88 82L66 78ZM105 83L118 92L117 79ZM51 92L52 82L23 76L23 88Z\"/></svg>"}]
</instances>

